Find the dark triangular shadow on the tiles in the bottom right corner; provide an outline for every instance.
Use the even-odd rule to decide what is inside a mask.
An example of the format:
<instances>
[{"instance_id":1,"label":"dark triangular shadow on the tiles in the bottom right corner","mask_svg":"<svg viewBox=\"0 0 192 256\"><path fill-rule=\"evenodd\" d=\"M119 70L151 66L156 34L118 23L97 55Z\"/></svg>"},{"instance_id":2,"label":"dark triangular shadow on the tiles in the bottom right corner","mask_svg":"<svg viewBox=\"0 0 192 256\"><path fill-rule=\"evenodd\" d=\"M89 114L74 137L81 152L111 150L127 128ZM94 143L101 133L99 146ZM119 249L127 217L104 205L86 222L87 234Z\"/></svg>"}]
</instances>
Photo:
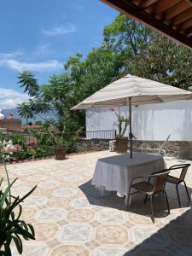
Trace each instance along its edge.
<instances>
[{"instance_id":1,"label":"dark triangular shadow on the tiles in the bottom right corner","mask_svg":"<svg viewBox=\"0 0 192 256\"><path fill-rule=\"evenodd\" d=\"M192 209L172 220L124 256L191 256Z\"/></svg>"}]
</instances>

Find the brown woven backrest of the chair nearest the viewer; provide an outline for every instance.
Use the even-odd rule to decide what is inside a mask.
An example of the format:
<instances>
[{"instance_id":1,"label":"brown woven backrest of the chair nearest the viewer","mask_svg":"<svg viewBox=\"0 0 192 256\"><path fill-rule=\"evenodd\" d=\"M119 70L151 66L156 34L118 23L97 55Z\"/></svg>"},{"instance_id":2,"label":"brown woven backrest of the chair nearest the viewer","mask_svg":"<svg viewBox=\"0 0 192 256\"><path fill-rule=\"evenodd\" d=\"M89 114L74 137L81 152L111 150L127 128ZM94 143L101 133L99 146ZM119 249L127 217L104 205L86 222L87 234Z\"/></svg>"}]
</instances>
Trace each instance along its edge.
<instances>
[{"instance_id":1,"label":"brown woven backrest of the chair nearest the viewer","mask_svg":"<svg viewBox=\"0 0 192 256\"><path fill-rule=\"evenodd\" d=\"M151 177L154 177L154 193L163 191L166 184L166 177L169 174L170 170L162 170L160 172L154 172Z\"/></svg>"}]
</instances>

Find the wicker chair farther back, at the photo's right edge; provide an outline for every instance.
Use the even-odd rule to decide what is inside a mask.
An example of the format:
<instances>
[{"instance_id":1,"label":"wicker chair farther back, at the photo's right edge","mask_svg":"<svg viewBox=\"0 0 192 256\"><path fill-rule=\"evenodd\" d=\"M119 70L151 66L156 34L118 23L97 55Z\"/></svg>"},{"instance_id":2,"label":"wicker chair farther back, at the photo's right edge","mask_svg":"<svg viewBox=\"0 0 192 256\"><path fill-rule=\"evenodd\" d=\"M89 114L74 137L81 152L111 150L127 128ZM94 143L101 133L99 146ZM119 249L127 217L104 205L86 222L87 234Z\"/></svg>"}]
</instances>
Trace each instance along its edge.
<instances>
[{"instance_id":1,"label":"wicker chair farther back, at the photo's right edge","mask_svg":"<svg viewBox=\"0 0 192 256\"><path fill-rule=\"evenodd\" d=\"M173 184L176 185L177 199L178 199L179 207L181 207L181 201L180 201L180 197L179 197L179 194L178 194L178 184L180 184L180 183L184 183L184 187L185 187L186 193L188 195L188 200L190 202L189 191L188 191L186 183L184 181L184 178L185 178L185 175L188 171L189 166L190 166L190 164L181 164L181 165L176 165L176 166L170 167L169 168L170 171L181 170L181 174L180 174L179 177L173 177L171 175L168 175L167 178L166 178L167 183L173 183Z\"/></svg>"}]
</instances>

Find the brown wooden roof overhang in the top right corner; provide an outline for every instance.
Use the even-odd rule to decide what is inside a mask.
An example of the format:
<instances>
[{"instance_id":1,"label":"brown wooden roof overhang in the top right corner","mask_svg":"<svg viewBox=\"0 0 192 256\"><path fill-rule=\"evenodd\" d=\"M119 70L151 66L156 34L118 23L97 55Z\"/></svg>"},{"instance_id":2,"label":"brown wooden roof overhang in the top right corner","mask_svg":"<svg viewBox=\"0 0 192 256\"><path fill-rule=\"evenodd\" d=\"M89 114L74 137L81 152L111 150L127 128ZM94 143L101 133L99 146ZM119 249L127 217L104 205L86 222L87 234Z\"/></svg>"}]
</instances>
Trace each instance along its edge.
<instances>
[{"instance_id":1,"label":"brown wooden roof overhang in the top right corner","mask_svg":"<svg viewBox=\"0 0 192 256\"><path fill-rule=\"evenodd\" d=\"M101 0L192 49L192 0Z\"/></svg>"}]
</instances>

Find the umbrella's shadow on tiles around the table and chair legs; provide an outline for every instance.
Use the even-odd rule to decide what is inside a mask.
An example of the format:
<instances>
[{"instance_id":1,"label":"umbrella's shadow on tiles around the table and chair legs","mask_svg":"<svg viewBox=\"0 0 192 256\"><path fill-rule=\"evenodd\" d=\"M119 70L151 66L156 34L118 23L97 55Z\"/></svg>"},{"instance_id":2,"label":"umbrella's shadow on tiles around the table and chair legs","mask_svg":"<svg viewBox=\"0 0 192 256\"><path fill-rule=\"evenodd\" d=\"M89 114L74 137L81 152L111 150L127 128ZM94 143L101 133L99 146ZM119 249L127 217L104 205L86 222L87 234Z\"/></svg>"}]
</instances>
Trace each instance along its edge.
<instances>
[{"instance_id":1,"label":"umbrella's shadow on tiles around the table and chair legs","mask_svg":"<svg viewBox=\"0 0 192 256\"><path fill-rule=\"evenodd\" d=\"M104 197L101 196L99 190L96 189L95 186L91 185L91 180L87 183L83 183L79 186L87 197L90 205L100 206L100 207L110 207L114 209L118 209L121 211L125 211L125 198L119 197L116 195L116 192L107 193ZM192 193L192 189L188 188L189 195ZM173 184L166 184L166 192L169 199L170 209L177 209L178 208L178 201L177 201L177 193L175 185ZM184 189L183 184L179 185L179 195L182 202L182 207L189 207L188 198L186 195L186 191ZM134 212L140 215L149 216L150 206L149 202L144 204L144 197L141 194L133 195L131 207L129 208L129 212ZM156 195L154 197L154 216L155 218L162 218L167 215L166 213L166 201L164 200L162 195Z\"/></svg>"}]
</instances>

